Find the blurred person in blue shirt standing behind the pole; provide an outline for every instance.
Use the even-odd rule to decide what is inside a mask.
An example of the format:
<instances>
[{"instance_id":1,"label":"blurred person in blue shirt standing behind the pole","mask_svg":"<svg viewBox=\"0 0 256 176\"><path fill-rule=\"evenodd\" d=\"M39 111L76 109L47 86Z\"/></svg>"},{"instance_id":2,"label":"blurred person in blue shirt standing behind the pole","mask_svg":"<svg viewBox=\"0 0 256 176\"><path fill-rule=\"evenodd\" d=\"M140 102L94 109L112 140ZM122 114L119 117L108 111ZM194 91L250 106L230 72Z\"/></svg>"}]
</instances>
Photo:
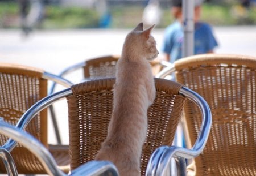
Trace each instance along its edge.
<instances>
[{"instance_id":1,"label":"blurred person in blue shirt standing behind the pole","mask_svg":"<svg viewBox=\"0 0 256 176\"><path fill-rule=\"evenodd\" d=\"M213 53L218 46L209 24L200 22L201 1L195 0L195 37L194 54ZM164 31L163 53L166 61L173 63L182 57L183 26L182 26L182 0L172 0L172 14L175 22L170 24Z\"/></svg>"}]
</instances>

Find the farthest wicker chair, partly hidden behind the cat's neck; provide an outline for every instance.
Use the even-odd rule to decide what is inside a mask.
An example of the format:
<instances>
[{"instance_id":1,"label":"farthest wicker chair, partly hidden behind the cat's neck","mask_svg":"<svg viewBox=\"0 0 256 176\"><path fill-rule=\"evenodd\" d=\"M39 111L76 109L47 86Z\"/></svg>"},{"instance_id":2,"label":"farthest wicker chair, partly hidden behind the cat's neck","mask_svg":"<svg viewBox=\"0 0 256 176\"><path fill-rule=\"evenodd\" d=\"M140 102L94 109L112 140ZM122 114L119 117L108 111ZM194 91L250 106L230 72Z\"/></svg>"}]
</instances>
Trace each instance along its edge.
<instances>
[{"instance_id":1,"label":"farthest wicker chair, partly hidden behind the cat's neck","mask_svg":"<svg viewBox=\"0 0 256 176\"><path fill-rule=\"evenodd\" d=\"M96 57L92 59L87 59L84 62L77 63L68 68L65 68L59 76L62 78L66 78L68 80L72 80L74 82L74 78L80 78L77 80L77 83L80 83L81 80L87 81L92 79L100 79L100 78L110 78L115 76L115 65L119 59L119 55L106 55L102 57ZM168 62L159 62L159 61L150 61L152 72L156 75L160 72L164 67L170 66ZM82 75L79 71L82 69ZM50 93L55 92L56 84L53 83ZM61 138L59 135L59 127L56 123L55 110L53 107L50 107L52 114L53 126L55 128L56 138L58 143L61 144Z\"/></svg>"}]
</instances>

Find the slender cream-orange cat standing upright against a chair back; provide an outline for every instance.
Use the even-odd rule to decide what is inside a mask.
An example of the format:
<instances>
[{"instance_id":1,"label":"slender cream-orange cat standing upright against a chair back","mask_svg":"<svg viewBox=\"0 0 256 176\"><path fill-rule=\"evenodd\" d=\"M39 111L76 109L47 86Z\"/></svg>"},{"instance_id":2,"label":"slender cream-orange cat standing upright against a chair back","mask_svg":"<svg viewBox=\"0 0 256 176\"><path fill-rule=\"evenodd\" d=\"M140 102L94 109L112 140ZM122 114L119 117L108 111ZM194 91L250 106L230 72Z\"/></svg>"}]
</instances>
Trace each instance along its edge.
<instances>
[{"instance_id":1,"label":"slender cream-orange cat standing upright against a chair back","mask_svg":"<svg viewBox=\"0 0 256 176\"><path fill-rule=\"evenodd\" d=\"M143 23L125 39L117 62L113 112L108 135L96 160L108 160L121 176L140 175L142 147L147 134L147 109L155 99L155 83L148 61L158 56L152 27Z\"/></svg>"}]
</instances>

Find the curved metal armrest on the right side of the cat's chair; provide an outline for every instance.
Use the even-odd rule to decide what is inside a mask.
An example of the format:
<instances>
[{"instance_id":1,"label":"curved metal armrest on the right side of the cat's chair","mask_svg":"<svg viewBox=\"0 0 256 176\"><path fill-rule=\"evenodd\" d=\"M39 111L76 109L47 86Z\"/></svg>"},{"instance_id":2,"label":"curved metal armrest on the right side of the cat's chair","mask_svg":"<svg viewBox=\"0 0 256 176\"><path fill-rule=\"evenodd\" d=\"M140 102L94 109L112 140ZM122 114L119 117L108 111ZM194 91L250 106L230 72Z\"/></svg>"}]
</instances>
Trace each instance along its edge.
<instances>
[{"instance_id":1,"label":"curved metal armrest on the right side of the cat's chair","mask_svg":"<svg viewBox=\"0 0 256 176\"><path fill-rule=\"evenodd\" d=\"M164 175L164 173L168 172L168 169L171 169L170 165L172 157L186 159L195 158L203 152L205 144L207 143L210 127L212 125L212 114L209 105L203 97L189 88L182 87L180 89L180 94L197 104L201 110L203 120L197 140L191 149L177 146L162 146L156 149L148 162L146 175Z\"/></svg>"}]
</instances>

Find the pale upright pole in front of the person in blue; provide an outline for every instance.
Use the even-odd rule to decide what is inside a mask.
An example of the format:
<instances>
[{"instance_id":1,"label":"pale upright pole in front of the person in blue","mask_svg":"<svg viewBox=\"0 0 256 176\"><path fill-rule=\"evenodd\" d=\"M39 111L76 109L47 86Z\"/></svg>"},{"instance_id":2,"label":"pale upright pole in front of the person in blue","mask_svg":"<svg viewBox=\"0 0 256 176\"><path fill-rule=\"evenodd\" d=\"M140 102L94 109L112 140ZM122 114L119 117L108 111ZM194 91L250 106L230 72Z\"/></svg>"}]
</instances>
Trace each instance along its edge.
<instances>
[{"instance_id":1,"label":"pale upright pole in front of the person in blue","mask_svg":"<svg viewBox=\"0 0 256 176\"><path fill-rule=\"evenodd\" d=\"M194 6L195 0L182 0L184 41L183 57L194 54Z\"/></svg>"}]
</instances>

